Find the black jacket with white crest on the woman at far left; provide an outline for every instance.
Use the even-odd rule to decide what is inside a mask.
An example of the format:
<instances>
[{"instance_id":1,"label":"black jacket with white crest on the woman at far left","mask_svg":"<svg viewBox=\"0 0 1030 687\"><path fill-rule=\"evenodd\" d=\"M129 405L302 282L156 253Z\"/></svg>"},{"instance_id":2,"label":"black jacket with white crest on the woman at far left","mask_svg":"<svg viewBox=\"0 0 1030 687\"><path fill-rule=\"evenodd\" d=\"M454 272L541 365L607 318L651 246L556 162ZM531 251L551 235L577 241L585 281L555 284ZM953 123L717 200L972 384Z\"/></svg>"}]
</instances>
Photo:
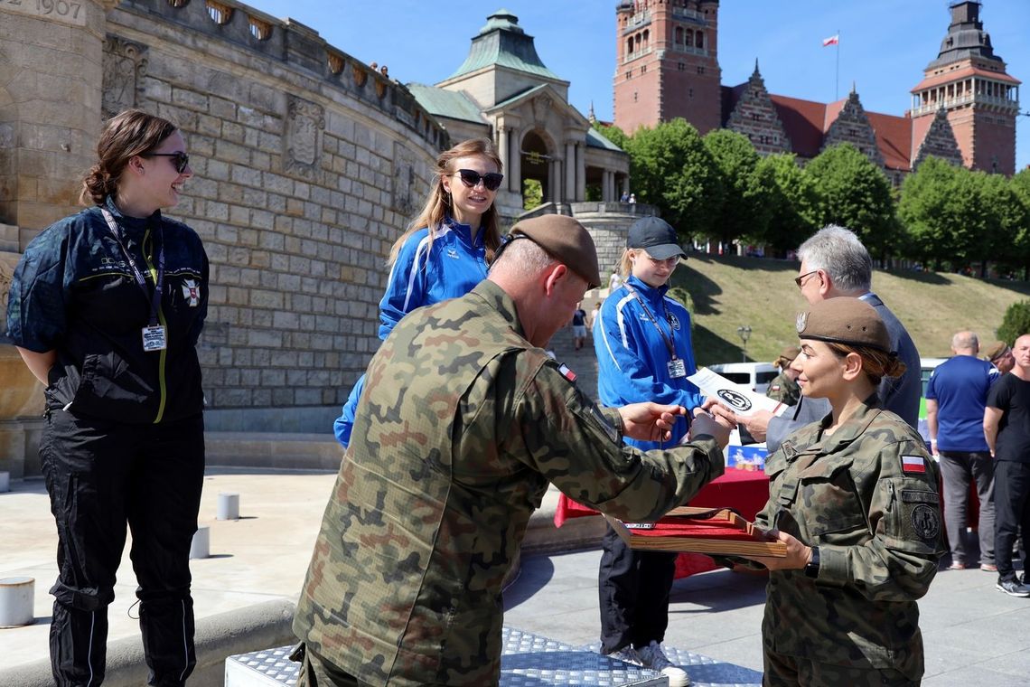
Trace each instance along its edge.
<instances>
[{"instance_id":1,"label":"black jacket with white crest on the woman at far left","mask_svg":"<svg viewBox=\"0 0 1030 687\"><path fill-rule=\"evenodd\" d=\"M146 279L146 294L101 208L91 207L52 225L26 248L8 298L8 336L22 348L57 351L47 408L130 423L196 415L204 404L196 344L208 296L200 237L160 211L139 219L123 215L111 199L105 207ZM167 348L146 352L142 330L162 245L158 319Z\"/></svg>"}]
</instances>

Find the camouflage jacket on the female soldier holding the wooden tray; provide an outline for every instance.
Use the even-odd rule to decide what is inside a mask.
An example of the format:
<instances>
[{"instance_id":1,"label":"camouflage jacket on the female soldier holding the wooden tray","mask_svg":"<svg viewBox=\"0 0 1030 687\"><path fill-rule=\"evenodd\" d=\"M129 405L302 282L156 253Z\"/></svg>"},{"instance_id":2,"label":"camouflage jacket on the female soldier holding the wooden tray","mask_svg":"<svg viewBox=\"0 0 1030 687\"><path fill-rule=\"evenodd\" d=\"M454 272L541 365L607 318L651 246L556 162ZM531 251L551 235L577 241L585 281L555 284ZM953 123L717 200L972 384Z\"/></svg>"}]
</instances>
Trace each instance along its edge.
<instances>
[{"instance_id":1,"label":"camouflage jacket on the female soldier holding the wooden tray","mask_svg":"<svg viewBox=\"0 0 1030 687\"><path fill-rule=\"evenodd\" d=\"M937 466L897 415L869 399L831 436L830 416L794 433L765 463L756 522L818 546L816 579L769 574L767 650L808 660L923 675L916 599L942 555Z\"/></svg>"}]
</instances>

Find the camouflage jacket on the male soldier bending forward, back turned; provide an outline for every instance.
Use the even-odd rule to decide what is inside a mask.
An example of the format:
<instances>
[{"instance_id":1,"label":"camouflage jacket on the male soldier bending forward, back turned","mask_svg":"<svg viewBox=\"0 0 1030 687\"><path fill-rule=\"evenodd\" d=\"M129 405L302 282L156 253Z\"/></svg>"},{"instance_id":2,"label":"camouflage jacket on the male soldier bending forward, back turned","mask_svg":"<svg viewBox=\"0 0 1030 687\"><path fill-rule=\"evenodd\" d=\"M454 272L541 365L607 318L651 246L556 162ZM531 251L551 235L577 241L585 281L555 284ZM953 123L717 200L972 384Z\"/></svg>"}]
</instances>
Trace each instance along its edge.
<instances>
[{"instance_id":1,"label":"camouflage jacket on the male soldier bending forward, back turned","mask_svg":"<svg viewBox=\"0 0 1030 687\"><path fill-rule=\"evenodd\" d=\"M501 585L548 482L630 520L723 471L716 443L642 453L617 411L522 336L481 282L422 308L373 357L294 621L318 656L372 685L488 685Z\"/></svg>"}]
</instances>

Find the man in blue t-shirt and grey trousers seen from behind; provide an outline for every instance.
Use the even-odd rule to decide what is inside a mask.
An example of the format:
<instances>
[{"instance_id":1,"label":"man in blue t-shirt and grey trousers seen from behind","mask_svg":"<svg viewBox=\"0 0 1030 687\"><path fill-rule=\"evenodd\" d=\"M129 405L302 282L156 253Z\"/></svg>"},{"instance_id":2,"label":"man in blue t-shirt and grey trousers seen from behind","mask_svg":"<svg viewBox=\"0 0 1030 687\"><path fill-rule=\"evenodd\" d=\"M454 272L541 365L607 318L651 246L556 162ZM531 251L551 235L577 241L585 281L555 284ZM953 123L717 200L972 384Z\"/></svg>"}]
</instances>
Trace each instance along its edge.
<instances>
[{"instance_id":1,"label":"man in blue t-shirt and grey trousers seen from behind","mask_svg":"<svg viewBox=\"0 0 1030 687\"><path fill-rule=\"evenodd\" d=\"M945 483L945 526L952 548L952 570L973 563L966 551L966 508L969 481L980 499L980 566L996 571L994 562L994 460L984 438L984 407L998 370L976 357L980 340L972 332L952 337L955 355L941 363L926 385L926 424L930 450L940 461Z\"/></svg>"}]
</instances>

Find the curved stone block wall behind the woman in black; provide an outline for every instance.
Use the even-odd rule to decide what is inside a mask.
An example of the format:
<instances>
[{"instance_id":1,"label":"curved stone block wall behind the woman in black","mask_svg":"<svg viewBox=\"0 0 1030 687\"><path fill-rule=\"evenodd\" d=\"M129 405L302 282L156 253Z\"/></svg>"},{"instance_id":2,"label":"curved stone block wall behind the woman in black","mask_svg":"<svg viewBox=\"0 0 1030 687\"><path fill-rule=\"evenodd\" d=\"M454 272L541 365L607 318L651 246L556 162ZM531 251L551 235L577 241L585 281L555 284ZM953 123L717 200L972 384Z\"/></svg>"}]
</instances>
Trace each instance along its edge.
<instances>
[{"instance_id":1,"label":"curved stone block wall behind the woman in black","mask_svg":"<svg viewBox=\"0 0 1030 687\"><path fill-rule=\"evenodd\" d=\"M169 214L211 261L209 426L233 409L234 428L274 431L262 409L277 408L294 428L327 431L297 416L338 408L378 346L385 255L446 133L316 31L229 1L121 3L103 106L156 112L186 138L196 176Z\"/></svg>"}]
</instances>

